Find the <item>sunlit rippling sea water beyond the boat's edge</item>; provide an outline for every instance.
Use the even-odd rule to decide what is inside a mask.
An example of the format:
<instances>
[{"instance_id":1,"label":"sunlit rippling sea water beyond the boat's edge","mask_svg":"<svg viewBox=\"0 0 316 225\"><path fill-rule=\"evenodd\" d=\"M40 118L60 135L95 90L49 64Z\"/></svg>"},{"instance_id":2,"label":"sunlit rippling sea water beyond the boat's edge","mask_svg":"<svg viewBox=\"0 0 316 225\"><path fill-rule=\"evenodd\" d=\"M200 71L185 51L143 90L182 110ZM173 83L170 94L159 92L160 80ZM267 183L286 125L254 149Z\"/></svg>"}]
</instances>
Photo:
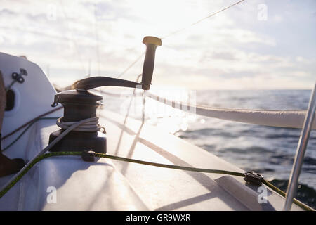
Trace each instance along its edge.
<instances>
[{"instance_id":1,"label":"sunlit rippling sea water beyond the boat's edge","mask_svg":"<svg viewBox=\"0 0 316 225\"><path fill-rule=\"evenodd\" d=\"M311 91L194 91L194 94L198 105L210 107L305 110L308 108ZM107 107L117 110L117 99L109 99L108 96L106 98ZM122 99L122 101L128 105L126 99ZM135 103L131 105L135 108L141 103L140 99L139 101L135 100ZM272 181L272 184L286 191L301 134L300 129L265 127L198 115L195 117L190 117L187 114L176 115L172 111L173 109L162 110L164 115L153 114L152 111L163 107L162 103L159 103L161 105L158 107L154 107L154 104L157 104L156 101L146 101L145 122L164 127L181 139L193 143L246 171L260 173ZM131 116L140 119L140 111L132 111ZM310 133L299 184L297 198L316 208L315 130Z\"/></svg>"}]
</instances>

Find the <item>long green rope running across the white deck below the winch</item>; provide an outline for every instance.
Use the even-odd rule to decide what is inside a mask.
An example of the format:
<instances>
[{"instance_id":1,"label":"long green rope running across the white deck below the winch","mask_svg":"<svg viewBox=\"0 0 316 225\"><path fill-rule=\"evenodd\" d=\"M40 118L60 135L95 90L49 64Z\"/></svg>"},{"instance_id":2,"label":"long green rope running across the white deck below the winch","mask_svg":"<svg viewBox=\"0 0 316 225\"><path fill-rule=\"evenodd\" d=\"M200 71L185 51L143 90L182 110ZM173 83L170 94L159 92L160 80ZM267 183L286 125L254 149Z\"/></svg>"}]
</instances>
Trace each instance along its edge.
<instances>
[{"instance_id":1,"label":"long green rope running across the white deck below the winch","mask_svg":"<svg viewBox=\"0 0 316 225\"><path fill-rule=\"evenodd\" d=\"M59 156L59 155L82 155L83 152L53 152L53 153L46 153L44 155L40 155L37 157L34 162L32 162L28 167L23 168L22 173L20 176L17 176L10 184L8 184L4 189L0 191L0 198L4 196L20 179L22 179L22 176L24 176L29 169L31 169L34 165L37 164L37 162L43 160L44 158L49 158L53 156ZM157 162L147 162L143 160L133 160L130 158L123 158L115 155L106 155L103 153L93 153L94 156L99 157L99 158L109 158L112 160L119 160L119 161L124 161L124 162L133 162L133 163L138 163L138 164L143 164L143 165L150 165L154 167L163 167L163 168L169 168L169 169L180 169L180 170L185 170L185 171L192 171L192 172L204 172L204 173L211 173L211 174L228 174L232 176L242 176L244 177L243 173L239 172L232 172L232 171L227 171L227 170L220 170L220 169L203 169L203 168L195 168L195 167L182 167L182 166L177 166L177 165L168 165L168 164L162 164L162 163L157 163ZM272 185L269 181L266 181L263 179L263 184L271 188L273 191L276 191L283 197L285 197L287 194L284 193L282 190L277 188L276 186ZM314 211L312 207L309 207L308 205L305 205L304 203L301 203L300 201L296 200L296 198L293 198L293 202L301 207L303 210L308 210L308 211Z\"/></svg>"}]
</instances>

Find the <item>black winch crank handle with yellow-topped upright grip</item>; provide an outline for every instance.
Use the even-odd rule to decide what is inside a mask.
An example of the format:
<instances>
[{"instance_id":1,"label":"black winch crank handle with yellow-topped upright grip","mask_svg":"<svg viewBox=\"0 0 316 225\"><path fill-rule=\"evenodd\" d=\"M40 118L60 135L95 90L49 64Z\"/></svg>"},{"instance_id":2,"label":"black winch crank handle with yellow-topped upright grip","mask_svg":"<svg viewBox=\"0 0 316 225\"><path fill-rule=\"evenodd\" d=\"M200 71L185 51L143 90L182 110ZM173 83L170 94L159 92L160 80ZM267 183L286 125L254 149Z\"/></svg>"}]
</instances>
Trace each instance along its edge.
<instances>
[{"instance_id":1,"label":"black winch crank handle with yellow-topped upright grip","mask_svg":"<svg viewBox=\"0 0 316 225\"><path fill-rule=\"evenodd\" d=\"M77 90L94 89L99 86L125 86L131 88L140 88L149 90L152 82L152 73L154 72L154 55L157 46L162 45L162 40L157 37L147 36L143 39L146 45L146 55L143 65L142 82L131 82L125 79L117 79L112 77L88 77L77 82Z\"/></svg>"}]
</instances>

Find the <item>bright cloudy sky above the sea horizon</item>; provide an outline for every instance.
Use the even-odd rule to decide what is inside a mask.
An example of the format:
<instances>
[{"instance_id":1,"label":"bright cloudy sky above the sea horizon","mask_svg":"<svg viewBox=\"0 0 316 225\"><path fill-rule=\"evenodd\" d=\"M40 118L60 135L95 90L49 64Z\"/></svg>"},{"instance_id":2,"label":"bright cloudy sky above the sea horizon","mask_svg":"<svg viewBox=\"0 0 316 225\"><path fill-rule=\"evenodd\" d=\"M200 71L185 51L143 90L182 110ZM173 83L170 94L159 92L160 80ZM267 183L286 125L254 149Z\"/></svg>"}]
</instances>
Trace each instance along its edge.
<instances>
[{"instance_id":1,"label":"bright cloudy sky above the sea horizon","mask_svg":"<svg viewBox=\"0 0 316 225\"><path fill-rule=\"evenodd\" d=\"M0 0L0 51L25 55L51 82L142 72L143 37L162 37L152 86L312 89L316 1ZM178 31L173 33L175 31ZM169 35L171 34L171 35Z\"/></svg>"}]
</instances>

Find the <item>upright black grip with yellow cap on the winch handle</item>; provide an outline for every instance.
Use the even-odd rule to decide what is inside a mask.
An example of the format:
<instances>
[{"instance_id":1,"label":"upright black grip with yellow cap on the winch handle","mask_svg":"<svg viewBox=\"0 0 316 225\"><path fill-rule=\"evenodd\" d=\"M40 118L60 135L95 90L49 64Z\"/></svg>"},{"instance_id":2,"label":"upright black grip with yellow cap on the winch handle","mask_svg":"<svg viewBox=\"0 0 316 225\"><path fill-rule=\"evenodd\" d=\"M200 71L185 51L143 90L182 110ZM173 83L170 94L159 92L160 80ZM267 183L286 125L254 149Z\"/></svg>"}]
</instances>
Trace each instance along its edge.
<instances>
[{"instance_id":1,"label":"upright black grip with yellow cap on the winch handle","mask_svg":"<svg viewBox=\"0 0 316 225\"><path fill-rule=\"evenodd\" d=\"M154 72L154 55L157 46L162 45L162 40L158 37L147 36L143 39L143 44L146 45L146 55L142 73L142 89L149 90L152 84L152 73Z\"/></svg>"}]
</instances>

